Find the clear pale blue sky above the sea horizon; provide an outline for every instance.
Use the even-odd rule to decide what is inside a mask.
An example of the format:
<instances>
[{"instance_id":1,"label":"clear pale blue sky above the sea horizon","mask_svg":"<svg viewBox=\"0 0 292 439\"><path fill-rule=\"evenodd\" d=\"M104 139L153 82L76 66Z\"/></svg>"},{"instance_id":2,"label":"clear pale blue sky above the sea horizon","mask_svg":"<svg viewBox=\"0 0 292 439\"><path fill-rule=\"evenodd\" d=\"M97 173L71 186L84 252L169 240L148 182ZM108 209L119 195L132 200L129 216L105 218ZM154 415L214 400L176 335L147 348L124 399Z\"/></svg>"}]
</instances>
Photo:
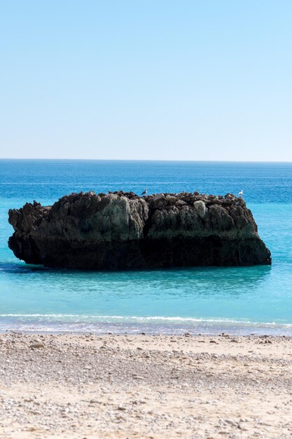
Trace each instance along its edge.
<instances>
[{"instance_id":1,"label":"clear pale blue sky above the sea horizon","mask_svg":"<svg viewBox=\"0 0 292 439\"><path fill-rule=\"evenodd\" d=\"M292 161L291 0L0 2L0 157Z\"/></svg>"}]
</instances>

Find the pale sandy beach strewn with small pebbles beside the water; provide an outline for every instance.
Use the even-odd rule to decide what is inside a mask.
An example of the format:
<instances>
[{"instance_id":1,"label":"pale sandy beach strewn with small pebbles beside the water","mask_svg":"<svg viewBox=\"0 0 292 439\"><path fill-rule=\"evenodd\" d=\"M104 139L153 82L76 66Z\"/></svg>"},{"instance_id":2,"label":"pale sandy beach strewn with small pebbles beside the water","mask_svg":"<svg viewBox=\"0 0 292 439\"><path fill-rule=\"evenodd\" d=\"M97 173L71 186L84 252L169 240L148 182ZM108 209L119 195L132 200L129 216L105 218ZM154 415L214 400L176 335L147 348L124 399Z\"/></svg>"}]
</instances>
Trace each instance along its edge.
<instances>
[{"instance_id":1,"label":"pale sandy beach strewn with small pebbles beside the water","mask_svg":"<svg viewBox=\"0 0 292 439\"><path fill-rule=\"evenodd\" d=\"M292 339L0 335L0 438L291 438Z\"/></svg>"}]
</instances>

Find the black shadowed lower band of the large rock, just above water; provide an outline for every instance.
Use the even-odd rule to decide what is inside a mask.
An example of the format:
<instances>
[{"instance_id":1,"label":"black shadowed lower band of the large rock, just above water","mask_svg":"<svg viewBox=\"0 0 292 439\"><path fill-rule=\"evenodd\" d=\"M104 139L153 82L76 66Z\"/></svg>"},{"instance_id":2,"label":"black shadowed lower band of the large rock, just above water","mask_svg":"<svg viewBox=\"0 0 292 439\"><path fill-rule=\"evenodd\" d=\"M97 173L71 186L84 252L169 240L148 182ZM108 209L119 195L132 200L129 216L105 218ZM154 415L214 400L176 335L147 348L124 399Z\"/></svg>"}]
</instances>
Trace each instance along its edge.
<instances>
[{"instance_id":1,"label":"black shadowed lower band of the large rock, just above water","mask_svg":"<svg viewBox=\"0 0 292 439\"><path fill-rule=\"evenodd\" d=\"M256 239L193 238L119 243L78 243L60 238L34 241L9 239L9 247L28 264L71 269L146 269L172 266L251 266L270 264ZM38 255L42 255L41 258Z\"/></svg>"}]
</instances>

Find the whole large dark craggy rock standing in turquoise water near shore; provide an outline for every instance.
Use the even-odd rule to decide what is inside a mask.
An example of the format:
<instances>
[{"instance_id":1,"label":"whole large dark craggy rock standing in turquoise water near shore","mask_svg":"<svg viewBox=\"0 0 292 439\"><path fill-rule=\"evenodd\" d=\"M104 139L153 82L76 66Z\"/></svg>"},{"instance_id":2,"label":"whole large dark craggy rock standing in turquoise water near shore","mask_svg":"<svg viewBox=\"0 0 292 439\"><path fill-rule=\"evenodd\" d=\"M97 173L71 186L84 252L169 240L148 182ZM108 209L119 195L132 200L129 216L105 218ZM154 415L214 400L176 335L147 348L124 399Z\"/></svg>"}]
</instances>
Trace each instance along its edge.
<instances>
[{"instance_id":1,"label":"whole large dark craggy rock standing in turquoise water near shore","mask_svg":"<svg viewBox=\"0 0 292 439\"><path fill-rule=\"evenodd\" d=\"M8 245L28 264L78 269L271 264L242 198L123 191L9 210Z\"/></svg>"}]
</instances>

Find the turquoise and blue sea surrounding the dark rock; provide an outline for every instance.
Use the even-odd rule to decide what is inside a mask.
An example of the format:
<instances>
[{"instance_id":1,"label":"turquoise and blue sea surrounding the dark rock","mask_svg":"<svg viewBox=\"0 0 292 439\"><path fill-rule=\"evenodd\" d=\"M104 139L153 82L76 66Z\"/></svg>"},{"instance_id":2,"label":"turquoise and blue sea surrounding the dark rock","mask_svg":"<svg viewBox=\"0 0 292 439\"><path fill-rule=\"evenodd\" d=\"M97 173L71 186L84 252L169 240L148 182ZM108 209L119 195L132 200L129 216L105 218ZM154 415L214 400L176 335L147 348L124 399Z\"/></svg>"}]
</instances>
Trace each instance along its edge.
<instances>
[{"instance_id":1,"label":"turquoise and blue sea surrounding the dark rock","mask_svg":"<svg viewBox=\"0 0 292 439\"><path fill-rule=\"evenodd\" d=\"M272 266L69 271L8 249L8 209L72 191L238 194ZM292 163L0 160L0 331L292 335Z\"/></svg>"}]
</instances>

